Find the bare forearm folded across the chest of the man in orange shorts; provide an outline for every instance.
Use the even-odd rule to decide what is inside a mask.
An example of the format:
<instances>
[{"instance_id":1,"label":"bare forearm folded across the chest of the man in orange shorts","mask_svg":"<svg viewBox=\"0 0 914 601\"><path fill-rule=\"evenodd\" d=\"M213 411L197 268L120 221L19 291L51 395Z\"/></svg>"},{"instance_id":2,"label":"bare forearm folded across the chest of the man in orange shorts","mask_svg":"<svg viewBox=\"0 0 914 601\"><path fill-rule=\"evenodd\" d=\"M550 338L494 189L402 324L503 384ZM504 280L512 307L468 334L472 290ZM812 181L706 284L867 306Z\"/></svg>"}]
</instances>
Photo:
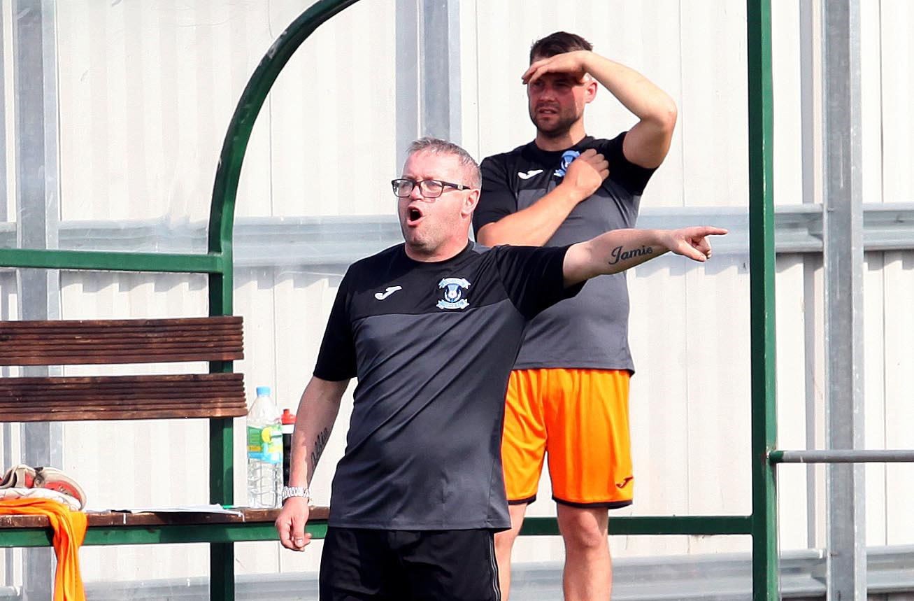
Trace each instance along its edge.
<instances>
[{"instance_id":1,"label":"bare forearm folded across the chest of the man in orange shorts","mask_svg":"<svg viewBox=\"0 0 914 601\"><path fill-rule=\"evenodd\" d=\"M542 246L568 218L571 209L589 198L609 175L606 159L596 150L585 150L571 162L556 188L526 209L486 223L476 232L476 240L485 246Z\"/></svg>"}]
</instances>

